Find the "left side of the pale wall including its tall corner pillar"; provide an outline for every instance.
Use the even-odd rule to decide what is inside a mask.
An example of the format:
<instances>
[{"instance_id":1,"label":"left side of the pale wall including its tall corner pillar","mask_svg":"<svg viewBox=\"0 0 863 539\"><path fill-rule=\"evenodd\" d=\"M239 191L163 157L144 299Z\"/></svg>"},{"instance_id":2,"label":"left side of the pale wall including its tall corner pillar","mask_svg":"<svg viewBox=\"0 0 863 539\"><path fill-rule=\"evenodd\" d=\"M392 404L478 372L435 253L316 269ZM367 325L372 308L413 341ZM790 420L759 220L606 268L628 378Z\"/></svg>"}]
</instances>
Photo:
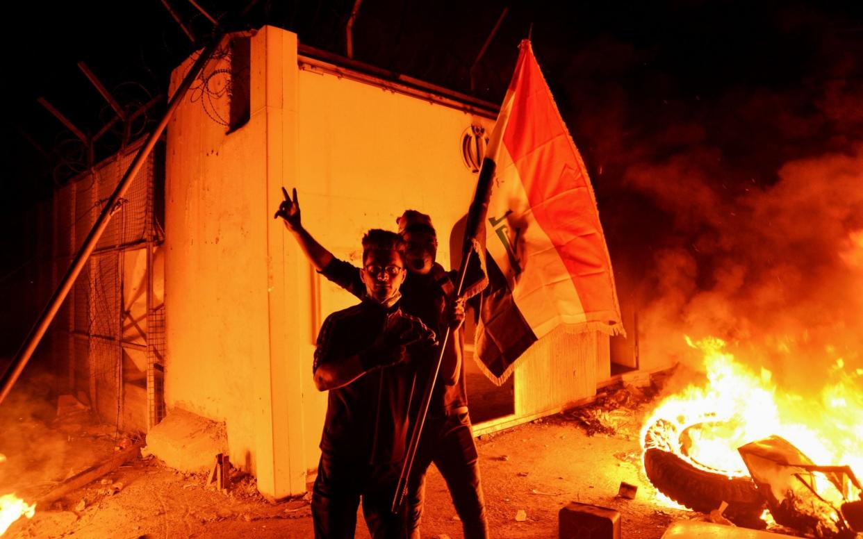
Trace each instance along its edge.
<instances>
[{"instance_id":1,"label":"left side of the pale wall including its tall corner pillar","mask_svg":"<svg viewBox=\"0 0 863 539\"><path fill-rule=\"evenodd\" d=\"M296 36L263 28L251 47L248 123L228 134L212 117L228 117L229 98L198 85L168 127L165 387L169 413L224 421L231 461L278 498L305 491L307 467L297 338L307 321L293 305L302 260L273 220L296 162ZM211 63L205 78L226 67Z\"/></svg>"}]
</instances>

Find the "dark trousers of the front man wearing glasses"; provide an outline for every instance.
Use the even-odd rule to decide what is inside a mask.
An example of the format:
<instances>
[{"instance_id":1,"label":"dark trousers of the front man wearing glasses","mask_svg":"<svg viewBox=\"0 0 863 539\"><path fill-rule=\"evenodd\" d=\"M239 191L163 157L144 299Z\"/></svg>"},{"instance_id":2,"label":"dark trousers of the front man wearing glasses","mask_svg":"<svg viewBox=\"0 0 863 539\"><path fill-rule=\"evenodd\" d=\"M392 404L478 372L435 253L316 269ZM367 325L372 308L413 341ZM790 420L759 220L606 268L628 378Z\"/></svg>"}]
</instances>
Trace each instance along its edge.
<instances>
[{"instance_id":1,"label":"dark trousers of the front man wearing glasses","mask_svg":"<svg viewBox=\"0 0 863 539\"><path fill-rule=\"evenodd\" d=\"M362 498L362 515L373 539L405 536L405 511L390 511L401 462L369 466L321 454L318 477L312 488L312 522L316 539L350 539L356 530L356 509Z\"/></svg>"}]
</instances>

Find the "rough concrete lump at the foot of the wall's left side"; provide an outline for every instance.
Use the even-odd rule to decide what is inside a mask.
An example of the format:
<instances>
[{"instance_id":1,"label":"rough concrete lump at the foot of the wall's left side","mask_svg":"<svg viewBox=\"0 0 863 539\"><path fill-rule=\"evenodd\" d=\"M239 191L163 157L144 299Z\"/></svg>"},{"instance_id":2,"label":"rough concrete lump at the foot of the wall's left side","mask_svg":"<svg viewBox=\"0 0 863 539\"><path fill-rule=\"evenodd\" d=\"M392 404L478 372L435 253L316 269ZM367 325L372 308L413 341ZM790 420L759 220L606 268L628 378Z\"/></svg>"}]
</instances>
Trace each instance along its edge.
<instances>
[{"instance_id":1,"label":"rough concrete lump at the foot of the wall's left side","mask_svg":"<svg viewBox=\"0 0 863 539\"><path fill-rule=\"evenodd\" d=\"M228 436L224 423L174 408L147 433L147 448L181 472L207 472L217 454L228 452Z\"/></svg>"}]
</instances>

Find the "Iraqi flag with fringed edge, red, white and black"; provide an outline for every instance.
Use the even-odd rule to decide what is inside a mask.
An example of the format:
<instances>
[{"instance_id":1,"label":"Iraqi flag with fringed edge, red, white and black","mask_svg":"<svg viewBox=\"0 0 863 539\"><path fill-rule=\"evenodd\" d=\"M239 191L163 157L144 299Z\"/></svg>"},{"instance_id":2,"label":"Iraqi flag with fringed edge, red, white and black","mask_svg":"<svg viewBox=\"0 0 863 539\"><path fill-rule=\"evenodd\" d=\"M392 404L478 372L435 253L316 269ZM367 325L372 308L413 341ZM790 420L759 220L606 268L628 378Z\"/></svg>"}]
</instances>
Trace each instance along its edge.
<instances>
[{"instance_id":1,"label":"Iraqi flag with fringed edge, red, white and black","mask_svg":"<svg viewBox=\"0 0 863 539\"><path fill-rule=\"evenodd\" d=\"M472 245L485 236L488 287L476 357L497 384L509 378L533 342L562 323L623 333L588 172L530 41L520 49L483 162L494 171L493 177L485 171L490 197L480 196L481 173L467 230ZM483 200L488 208L478 202Z\"/></svg>"}]
</instances>

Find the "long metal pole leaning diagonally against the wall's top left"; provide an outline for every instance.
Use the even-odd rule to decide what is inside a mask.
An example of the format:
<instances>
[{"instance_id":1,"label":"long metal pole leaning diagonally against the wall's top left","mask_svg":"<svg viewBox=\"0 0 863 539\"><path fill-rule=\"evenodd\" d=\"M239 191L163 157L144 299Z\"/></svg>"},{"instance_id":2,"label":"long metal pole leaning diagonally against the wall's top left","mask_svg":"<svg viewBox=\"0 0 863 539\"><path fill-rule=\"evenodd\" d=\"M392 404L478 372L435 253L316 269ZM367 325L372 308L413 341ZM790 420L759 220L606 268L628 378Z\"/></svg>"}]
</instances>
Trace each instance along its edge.
<instances>
[{"instance_id":1,"label":"long metal pole leaning diagonally against the wall's top left","mask_svg":"<svg viewBox=\"0 0 863 539\"><path fill-rule=\"evenodd\" d=\"M221 41L222 34L220 33L215 36L210 45L201 51L200 56L198 56L198 60L195 60L195 63L192 65L192 69L186 73L186 78L183 78L177 91L174 92L173 97L168 101L167 110L165 111L165 115L162 116L161 122L159 122L159 125L157 125L153 132L147 137L147 141L145 141L141 149L138 150L138 154L135 155L135 160L132 161L132 164L129 166L129 170L126 171L123 179L121 179L120 183L117 185L117 189L115 189L113 194L111 194L108 202L102 210L102 213L99 214L98 219L93 224L93 228L90 229L90 234L87 235L84 244L81 245L78 254L76 254L75 258L72 260L72 264L66 271L66 275L64 275L63 279L60 281L60 285L57 286L57 289L54 291L54 295L51 297L50 301L48 301L45 309L42 310L42 313L34 324L33 329L30 329L30 333L27 335L27 340L24 341L21 348L18 349L18 353L16 354L15 359L12 360L9 368L6 369L6 373L3 373L2 385L0 385L0 404L2 404L6 396L9 395L9 391L11 391L12 386L15 385L15 382L18 377L21 376L24 367L27 366L27 362L33 355L36 346L39 345L42 336L45 335L48 326L54 320L54 316L57 314L57 311L60 310L60 304L62 304L63 300L66 299L66 296L72 289L75 279L78 278L78 275L84 268L87 259L90 258L93 249L96 248L96 243L99 241L99 238L102 237L105 229L108 228L108 222L110 221L111 216L117 213L117 210L120 209L117 205L120 198L123 197L129 189L129 185L132 184L132 180L135 179L135 175L137 175L138 171L141 170L144 161L147 160L147 157L153 150L156 141L159 140L162 132L167 127L167 122L171 120L174 111L177 110L177 107L180 106L180 102L184 97L186 97L186 92L189 91L189 88L192 86L192 82L194 82L195 78L198 78L198 73L204 70L204 66L207 61L210 60L212 54L216 52Z\"/></svg>"}]
</instances>

